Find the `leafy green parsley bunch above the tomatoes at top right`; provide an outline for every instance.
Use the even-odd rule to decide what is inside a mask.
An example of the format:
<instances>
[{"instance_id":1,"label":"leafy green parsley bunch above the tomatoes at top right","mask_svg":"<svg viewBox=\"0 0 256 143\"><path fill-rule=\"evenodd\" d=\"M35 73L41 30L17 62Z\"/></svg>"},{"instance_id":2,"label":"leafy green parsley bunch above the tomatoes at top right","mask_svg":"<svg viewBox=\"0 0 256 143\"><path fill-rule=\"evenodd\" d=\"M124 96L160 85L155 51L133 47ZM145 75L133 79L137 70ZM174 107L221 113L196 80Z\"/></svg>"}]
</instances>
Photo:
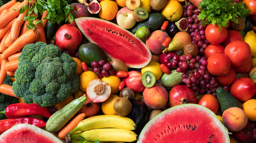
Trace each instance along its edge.
<instances>
[{"instance_id":1,"label":"leafy green parsley bunch above the tomatoes at top right","mask_svg":"<svg viewBox=\"0 0 256 143\"><path fill-rule=\"evenodd\" d=\"M227 27L228 21L238 23L236 17L245 17L249 14L250 10L245 8L241 2L234 3L234 0L202 0L198 4L202 8L198 19L204 24L218 24L219 31L221 27Z\"/></svg>"}]
</instances>

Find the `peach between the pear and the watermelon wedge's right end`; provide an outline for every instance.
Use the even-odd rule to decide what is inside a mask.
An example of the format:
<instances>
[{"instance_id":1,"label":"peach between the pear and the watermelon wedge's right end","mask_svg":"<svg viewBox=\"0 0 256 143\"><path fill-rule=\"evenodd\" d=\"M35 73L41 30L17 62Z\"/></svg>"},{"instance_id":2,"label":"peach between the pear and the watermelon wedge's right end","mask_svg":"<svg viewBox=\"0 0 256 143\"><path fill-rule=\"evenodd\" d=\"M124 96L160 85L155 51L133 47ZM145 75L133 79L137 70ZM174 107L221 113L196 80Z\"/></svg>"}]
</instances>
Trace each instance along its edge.
<instances>
[{"instance_id":1,"label":"peach between the pear and the watermelon wedge's right end","mask_svg":"<svg viewBox=\"0 0 256 143\"><path fill-rule=\"evenodd\" d=\"M160 55L162 53L163 49L161 45L167 37L169 37L169 35L161 30L156 30L150 34L149 38L146 40L146 45L152 54Z\"/></svg>"}]
</instances>

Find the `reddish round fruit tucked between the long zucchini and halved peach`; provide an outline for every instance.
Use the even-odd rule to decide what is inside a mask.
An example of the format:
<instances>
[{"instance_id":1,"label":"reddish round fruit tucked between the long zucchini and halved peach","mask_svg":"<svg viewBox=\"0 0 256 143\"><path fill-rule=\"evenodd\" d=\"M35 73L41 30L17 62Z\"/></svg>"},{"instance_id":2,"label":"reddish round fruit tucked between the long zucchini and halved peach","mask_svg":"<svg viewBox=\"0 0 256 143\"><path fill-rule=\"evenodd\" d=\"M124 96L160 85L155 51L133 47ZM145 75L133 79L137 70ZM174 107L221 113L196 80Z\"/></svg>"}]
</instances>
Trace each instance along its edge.
<instances>
[{"instance_id":1,"label":"reddish round fruit tucked between the long zucchini and halved peach","mask_svg":"<svg viewBox=\"0 0 256 143\"><path fill-rule=\"evenodd\" d=\"M83 93L79 97L83 96L84 94L86 95L86 93ZM100 103L94 103L88 98L88 100L83 104L82 108L76 114L85 113L85 118L92 117L99 113L100 108Z\"/></svg>"}]
</instances>

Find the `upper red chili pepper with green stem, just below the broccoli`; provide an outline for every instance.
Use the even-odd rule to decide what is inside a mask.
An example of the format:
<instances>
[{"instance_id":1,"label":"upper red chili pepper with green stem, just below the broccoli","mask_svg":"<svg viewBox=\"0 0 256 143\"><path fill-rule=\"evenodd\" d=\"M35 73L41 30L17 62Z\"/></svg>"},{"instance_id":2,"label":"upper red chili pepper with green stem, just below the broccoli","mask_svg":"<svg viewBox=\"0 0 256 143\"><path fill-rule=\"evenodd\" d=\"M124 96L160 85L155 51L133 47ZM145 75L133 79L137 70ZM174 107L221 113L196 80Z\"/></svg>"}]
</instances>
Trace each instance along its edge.
<instances>
[{"instance_id":1,"label":"upper red chili pepper with green stem, just below the broccoli","mask_svg":"<svg viewBox=\"0 0 256 143\"><path fill-rule=\"evenodd\" d=\"M40 107L34 103L26 104L24 102L8 105L5 111L0 113L4 113L8 118L17 118L30 115L39 115L49 118L52 115L46 107Z\"/></svg>"}]
</instances>

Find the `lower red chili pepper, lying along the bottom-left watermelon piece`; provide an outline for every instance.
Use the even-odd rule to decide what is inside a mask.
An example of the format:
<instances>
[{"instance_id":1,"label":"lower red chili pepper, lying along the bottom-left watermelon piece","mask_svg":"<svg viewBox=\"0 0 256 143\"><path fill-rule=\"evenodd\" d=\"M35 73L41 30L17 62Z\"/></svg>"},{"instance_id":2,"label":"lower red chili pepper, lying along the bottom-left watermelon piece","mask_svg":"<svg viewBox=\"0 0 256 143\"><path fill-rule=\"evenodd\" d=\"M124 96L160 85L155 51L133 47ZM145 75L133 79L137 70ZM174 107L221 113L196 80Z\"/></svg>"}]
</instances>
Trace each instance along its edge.
<instances>
[{"instance_id":1,"label":"lower red chili pepper, lying along the bottom-left watermelon piece","mask_svg":"<svg viewBox=\"0 0 256 143\"><path fill-rule=\"evenodd\" d=\"M43 128L46 125L45 121L33 117L3 119L0 120L0 135L4 133L6 130L10 129L13 125L22 123L35 125L39 128Z\"/></svg>"}]
</instances>

